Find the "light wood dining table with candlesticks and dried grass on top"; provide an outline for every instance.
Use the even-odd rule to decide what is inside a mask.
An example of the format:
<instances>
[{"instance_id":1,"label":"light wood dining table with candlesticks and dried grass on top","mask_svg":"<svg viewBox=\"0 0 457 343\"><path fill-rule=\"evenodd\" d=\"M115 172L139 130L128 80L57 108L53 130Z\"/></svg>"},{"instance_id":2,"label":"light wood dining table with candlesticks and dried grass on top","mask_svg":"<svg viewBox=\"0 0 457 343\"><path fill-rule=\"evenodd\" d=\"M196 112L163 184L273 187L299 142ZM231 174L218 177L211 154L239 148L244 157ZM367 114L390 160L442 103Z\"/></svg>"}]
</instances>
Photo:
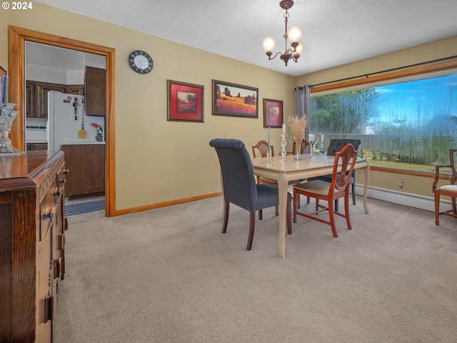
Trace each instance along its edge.
<instances>
[{"instance_id":1,"label":"light wood dining table with candlesticks and dried grass on top","mask_svg":"<svg viewBox=\"0 0 457 343\"><path fill-rule=\"evenodd\" d=\"M279 192L279 257L286 257L286 207L288 184L291 181L305 180L310 177L319 177L333 173L333 162L335 156L310 156L310 154L272 156L270 161L266 157L252 159L254 175L273 179L278 182ZM341 159L340 159L341 161ZM363 182L363 208L368 213L368 178L370 175L370 164L367 159L358 158L354 169L363 169L365 174ZM338 172L341 171L341 167Z\"/></svg>"}]
</instances>

